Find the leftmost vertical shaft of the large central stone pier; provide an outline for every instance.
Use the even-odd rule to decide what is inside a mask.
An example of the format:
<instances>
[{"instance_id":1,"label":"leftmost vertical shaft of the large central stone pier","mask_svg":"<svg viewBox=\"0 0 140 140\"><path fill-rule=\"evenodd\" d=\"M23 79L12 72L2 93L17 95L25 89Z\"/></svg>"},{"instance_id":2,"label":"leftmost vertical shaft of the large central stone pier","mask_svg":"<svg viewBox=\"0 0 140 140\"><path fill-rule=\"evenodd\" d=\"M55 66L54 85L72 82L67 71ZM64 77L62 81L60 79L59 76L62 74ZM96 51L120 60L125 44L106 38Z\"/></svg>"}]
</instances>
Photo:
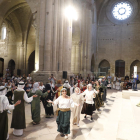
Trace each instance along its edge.
<instances>
[{"instance_id":1,"label":"leftmost vertical shaft of the large central stone pier","mask_svg":"<svg viewBox=\"0 0 140 140\"><path fill-rule=\"evenodd\" d=\"M46 0L40 1L40 20L39 20L39 70L44 69L44 47L45 47L45 17ZM45 63L46 64L46 63Z\"/></svg>"}]
</instances>

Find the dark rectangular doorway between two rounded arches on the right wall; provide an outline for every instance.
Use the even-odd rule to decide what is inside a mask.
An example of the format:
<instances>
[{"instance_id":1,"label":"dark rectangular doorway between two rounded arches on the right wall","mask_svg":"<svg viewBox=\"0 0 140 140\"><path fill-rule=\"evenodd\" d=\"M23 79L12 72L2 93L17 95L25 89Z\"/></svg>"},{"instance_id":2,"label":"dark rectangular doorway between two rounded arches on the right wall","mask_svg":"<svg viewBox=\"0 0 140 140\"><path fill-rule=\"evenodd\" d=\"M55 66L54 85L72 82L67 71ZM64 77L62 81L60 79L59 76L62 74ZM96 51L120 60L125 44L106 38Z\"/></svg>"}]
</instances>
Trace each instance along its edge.
<instances>
[{"instance_id":1,"label":"dark rectangular doorway between two rounded arches on the right wall","mask_svg":"<svg viewBox=\"0 0 140 140\"><path fill-rule=\"evenodd\" d=\"M115 61L115 75L120 77L125 76L125 61L123 60Z\"/></svg>"}]
</instances>

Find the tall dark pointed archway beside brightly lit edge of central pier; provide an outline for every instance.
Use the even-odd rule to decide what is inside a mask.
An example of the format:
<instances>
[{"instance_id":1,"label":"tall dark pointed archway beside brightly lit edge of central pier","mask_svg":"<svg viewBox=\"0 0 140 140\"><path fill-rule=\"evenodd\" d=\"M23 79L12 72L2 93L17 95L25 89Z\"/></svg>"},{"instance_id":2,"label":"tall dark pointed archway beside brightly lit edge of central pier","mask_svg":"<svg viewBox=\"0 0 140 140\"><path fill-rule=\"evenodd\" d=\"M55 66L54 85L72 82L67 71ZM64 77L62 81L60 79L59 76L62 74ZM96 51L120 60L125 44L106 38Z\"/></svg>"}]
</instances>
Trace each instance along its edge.
<instances>
[{"instance_id":1,"label":"tall dark pointed archway beside brightly lit edge of central pier","mask_svg":"<svg viewBox=\"0 0 140 140\"><path fill-rule=\"evenodd\" d=\"M35 70L35 51L33 51L28 59L28 74Z\"/></svg>"}]
</instances>

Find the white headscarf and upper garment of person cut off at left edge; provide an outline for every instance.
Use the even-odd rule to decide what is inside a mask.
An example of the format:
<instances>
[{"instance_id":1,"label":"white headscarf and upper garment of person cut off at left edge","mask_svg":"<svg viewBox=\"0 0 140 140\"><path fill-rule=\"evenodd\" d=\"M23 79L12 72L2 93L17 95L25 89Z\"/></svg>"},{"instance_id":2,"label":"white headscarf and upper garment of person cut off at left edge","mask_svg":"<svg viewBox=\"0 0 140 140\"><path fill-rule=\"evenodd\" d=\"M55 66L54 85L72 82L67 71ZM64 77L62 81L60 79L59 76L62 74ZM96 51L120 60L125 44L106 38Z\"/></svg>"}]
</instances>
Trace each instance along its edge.
<instances>
[{"instance_id":1,"label":"white headscarf and upper garment of person cut off at left edge","mask_svg":"<svg viewBox=\"0 0 140 140\"><path fill-rule=\"evenodd\" d=\"M7 106L7 104L5 104L6 93L7 93L6 88L4 86L0 86L0 113L6 110L6 106Z\"/></svg>"}]
</instances>

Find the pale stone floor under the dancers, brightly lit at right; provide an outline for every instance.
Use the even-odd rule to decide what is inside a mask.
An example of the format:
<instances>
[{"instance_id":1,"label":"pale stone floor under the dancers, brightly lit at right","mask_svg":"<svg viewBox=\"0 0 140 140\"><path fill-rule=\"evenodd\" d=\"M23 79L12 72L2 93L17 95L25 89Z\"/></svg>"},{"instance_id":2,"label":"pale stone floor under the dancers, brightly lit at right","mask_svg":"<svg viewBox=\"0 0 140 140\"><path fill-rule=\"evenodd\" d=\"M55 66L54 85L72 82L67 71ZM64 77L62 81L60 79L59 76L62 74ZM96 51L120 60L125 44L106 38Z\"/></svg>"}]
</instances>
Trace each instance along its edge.
<instances>
[{"instance_id":1,"label":"pale stone floor under the dancers, brightly lit at right","mask_svg":"<svg viewBox=\"0 0 140 140\"><path fill-rule=\"evenodd\" d=\"M122 98L122 92L108 90L107 102L101 112L93 113L84 119L81 114L80 127L71 124L69 140L140 140L140 108L136 104L140 97ZM56 108L55 108L56 109ZM64 140L57 132L56 117L45 118L41 103L41 123L31 124L30 104L26 104L26 126L22 137L15 137L10 129L12 114L9 117L10 140Z\"/></svg>"}]
</instances>

